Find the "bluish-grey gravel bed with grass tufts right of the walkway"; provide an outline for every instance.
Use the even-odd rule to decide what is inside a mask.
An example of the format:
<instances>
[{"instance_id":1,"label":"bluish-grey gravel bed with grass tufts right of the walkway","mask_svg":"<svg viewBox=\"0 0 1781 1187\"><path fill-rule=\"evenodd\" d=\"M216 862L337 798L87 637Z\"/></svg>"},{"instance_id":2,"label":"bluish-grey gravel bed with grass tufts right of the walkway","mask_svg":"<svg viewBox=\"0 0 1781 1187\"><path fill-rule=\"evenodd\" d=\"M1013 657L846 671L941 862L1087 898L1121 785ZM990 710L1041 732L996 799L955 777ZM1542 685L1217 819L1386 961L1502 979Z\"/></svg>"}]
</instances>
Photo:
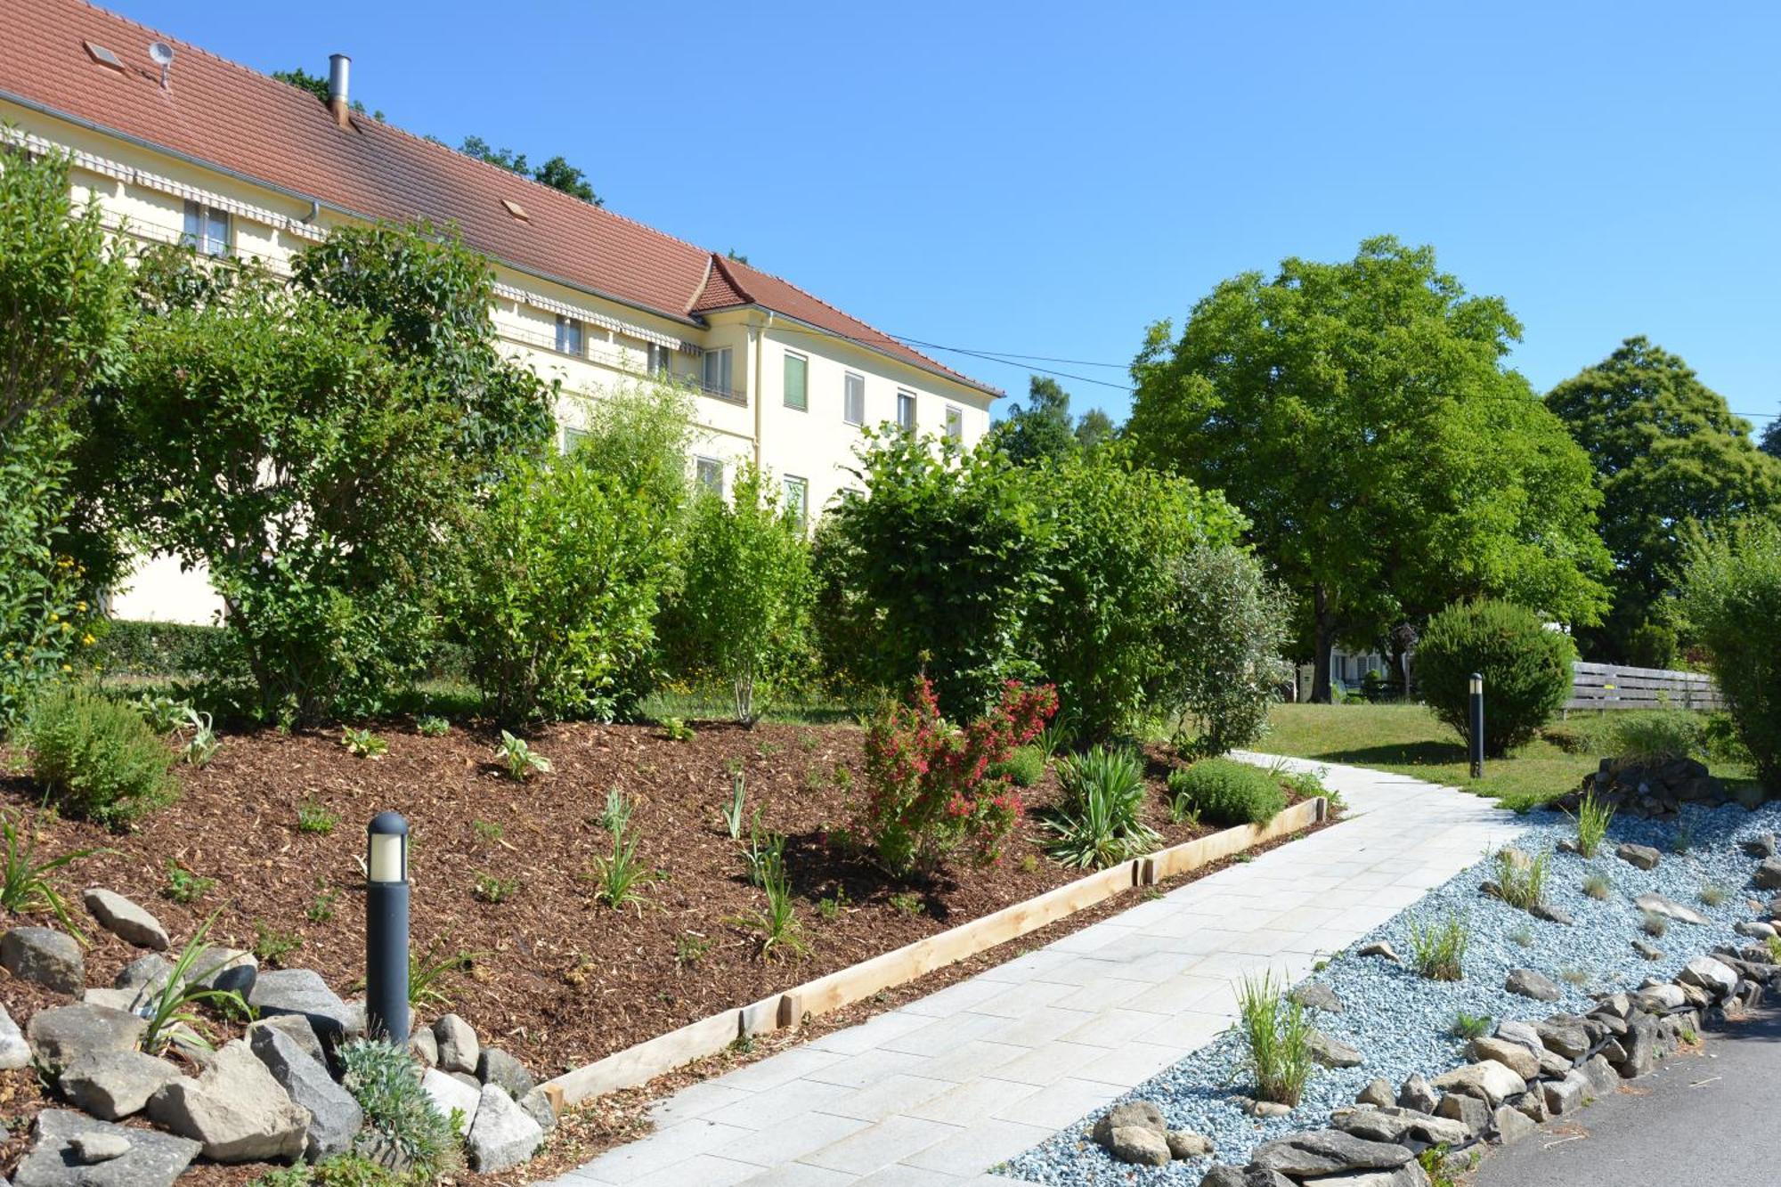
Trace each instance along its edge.
<instances>
[{"instance_id":1,"label":"bluish-grey gravel bed with grass tufts right of the walkway","mask_svg":"<svg viewBox=\"0 0 1781 1187\"><path fill-rule=\"evenodd\" d=\"M1330 986L1345 1003L1341 1014L1313 1012L1329 1036L1361 1052L1362 1064L1348 1069L1318 1069L1305 1087L1300 1105L1284 1117L1247 1116L1236 1094L1250 1091L1238 1071L1241 1044L1225 1032L1174 1068L1152 1076L1120 1100L1149 1100L1161 1107L1170 1128L1193 1130L1213 1141L1216 1158L1241 1166L1257 1144L1295 1130L1318 1128L1332 1109L1352 1105L1355 1094L1373 1078L1393 1089L1411 1073L1428 1078L1466 1060L1464 1041L1450 1034L1457 1011L1489 1014L1501 1021L1548 1018L1560 1011L1582 1012L1592 1005L1592 993L1637 987L1646 977L1672 978L1692 957L1722 943L1758 943L1736 936L1740 920L1761 918L1751 900L1767 902L1772 893L1754 888L1751 877L1758 859L1742 852L1740 841L1761 832L1781 832L1781 806L1749 813L1742 807L1683 807L1674 822L1619 818L1614 822L1601 854L1585 861L1576 854L1555 852L1557 841L1576 836L1576 827L1562 813L1539 811L1514 845L1528 854L1549 854L1546 900L1567 911L1574 927L1544 923L1503 902L1489 898L1478 886L1489 877L1489 864L1464 870L1435 888L1418 904L1375 929L1309 980ZM1678 854L1678 838L1687 852ZM1656 870L1639 870L1614 855L1624 841L1662 850ZM1587 896L1583 879L1603 873L1614 882L1606 902ZM1701 889L1726 891L1720 905L1701 902ZM1662 937L1640 932L1644 914L1633 898L1647 891L1708 916L1710 925L1671 921ZM1471 946L1466 954L1466 978L1460 982L1423 980L1409 966L1378 957L1354 955L1361 945L1384 939L1411 959L1411 921L1443 920L1460 911L1471 921ZM1646 961L1633 950L1633 939L1656 945L1665 955ZM1532 941L1523 946L1523 941ZM1530 968L1558 984L1558 1002L1533 1002L1510 995L1503 980L1514 968ZM1565 975L1583 973L1585 984L1569 984ZM1197 1187L1211 1166L1209 1158L1172 1162L1165 1167L1134 1167L1115 1162L1088 1137L1101 1110L1061 1130L1049 1141L1012 1158L999 1171L1037 1183L1184 1183Z\"/></svg>"}]
</instances>

